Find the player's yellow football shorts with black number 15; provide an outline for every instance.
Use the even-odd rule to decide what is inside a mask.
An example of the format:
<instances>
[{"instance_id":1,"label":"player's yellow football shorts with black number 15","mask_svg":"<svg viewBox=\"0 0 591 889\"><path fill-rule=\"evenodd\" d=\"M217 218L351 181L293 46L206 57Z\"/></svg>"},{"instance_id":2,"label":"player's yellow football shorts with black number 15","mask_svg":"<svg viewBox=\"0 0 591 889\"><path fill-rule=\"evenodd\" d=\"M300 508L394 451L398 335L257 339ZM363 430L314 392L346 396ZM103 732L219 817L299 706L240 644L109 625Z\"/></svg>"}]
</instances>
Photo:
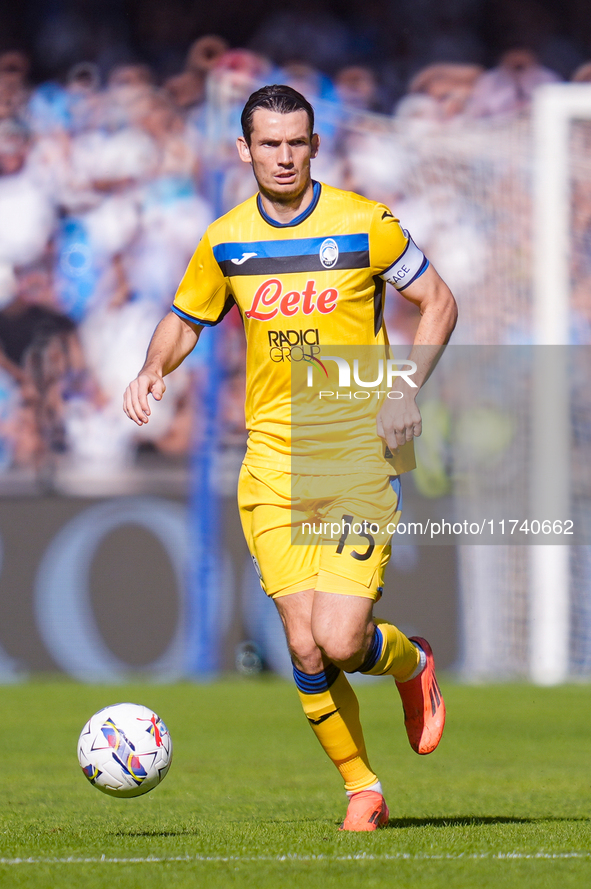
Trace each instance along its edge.
<instances>
[{"instance_id":1,"label":"player's yellow football shorts with black number 15","mask_svg":"<svg viewBox=\"0 0 591 889\"><path fill-rule=\"evenodd\" d=\"M398 476L243 465L238 482L244 536L271 597L316 589L377 601L401 504Z\"/></svg>"}]
</instances>

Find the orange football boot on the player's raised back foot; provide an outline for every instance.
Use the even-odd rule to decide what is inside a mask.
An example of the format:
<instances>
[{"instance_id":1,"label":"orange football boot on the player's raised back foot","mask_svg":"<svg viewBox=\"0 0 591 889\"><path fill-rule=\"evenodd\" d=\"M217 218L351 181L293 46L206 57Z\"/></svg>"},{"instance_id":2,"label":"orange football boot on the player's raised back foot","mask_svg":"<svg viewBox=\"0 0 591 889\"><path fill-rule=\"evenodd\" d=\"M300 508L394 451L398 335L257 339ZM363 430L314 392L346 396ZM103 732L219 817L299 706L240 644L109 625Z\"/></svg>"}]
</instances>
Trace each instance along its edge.
<instances>
[{"instance_id":1,"label":"orange football boot on the player's raised back foot","mask_svg":"<svg viewBox=\"0 0 591 889\"><path fill-rule=\"evenodd\" d=\"M432 753L441 740L445 725L445 704L435 676L433 652L426 639L412 636L427 655L427 663L414 679L396 682L402 698L404 725L410 746L416 753Z\"/></svg>"}]
</instances>

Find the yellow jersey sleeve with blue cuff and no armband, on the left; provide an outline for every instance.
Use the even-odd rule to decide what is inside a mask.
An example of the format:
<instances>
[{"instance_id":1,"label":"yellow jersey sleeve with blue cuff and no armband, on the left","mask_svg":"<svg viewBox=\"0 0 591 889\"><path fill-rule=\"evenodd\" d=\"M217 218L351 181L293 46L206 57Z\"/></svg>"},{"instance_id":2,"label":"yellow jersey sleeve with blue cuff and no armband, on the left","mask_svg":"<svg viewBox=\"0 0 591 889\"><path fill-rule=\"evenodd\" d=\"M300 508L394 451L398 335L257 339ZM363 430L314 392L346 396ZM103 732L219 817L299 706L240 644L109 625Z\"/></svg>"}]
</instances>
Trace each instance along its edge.
<instances>
[{"instance_id":1,"label":"yellow jersey sleeve with blue cuff and no armband, on the left","mask_svg":"<svg viewBox=\"0 0 591 889\"><path fill-rule=\"evenodd\" d=\"M213 255L206 232L179 284L172 311L185 320L213 327L233 304L228 280Z\"/></svg>"}]
</instances>

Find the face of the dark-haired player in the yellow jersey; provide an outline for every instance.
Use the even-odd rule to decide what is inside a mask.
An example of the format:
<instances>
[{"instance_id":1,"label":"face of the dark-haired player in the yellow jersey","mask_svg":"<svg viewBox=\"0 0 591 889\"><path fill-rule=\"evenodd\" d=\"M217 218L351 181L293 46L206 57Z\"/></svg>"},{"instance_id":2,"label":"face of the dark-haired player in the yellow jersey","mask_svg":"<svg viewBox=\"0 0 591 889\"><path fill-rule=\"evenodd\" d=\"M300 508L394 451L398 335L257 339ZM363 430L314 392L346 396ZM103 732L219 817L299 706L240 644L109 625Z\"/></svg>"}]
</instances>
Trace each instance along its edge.
<instances>
[{"instance_id":1,"label":"face of the dark-haired player in the yellow jersey","mask_svg":"<svg viewBox=\"0 0 591 889\"><path fill-rule=\"evenodd\" d=\"M320 141L310 136L308 115L257 108L252 121L250 145L242 137L237 142L241 159L252 164L262 194L280 203L297 201L310 186L310 160Z\"/></svg>"}]
</instances>

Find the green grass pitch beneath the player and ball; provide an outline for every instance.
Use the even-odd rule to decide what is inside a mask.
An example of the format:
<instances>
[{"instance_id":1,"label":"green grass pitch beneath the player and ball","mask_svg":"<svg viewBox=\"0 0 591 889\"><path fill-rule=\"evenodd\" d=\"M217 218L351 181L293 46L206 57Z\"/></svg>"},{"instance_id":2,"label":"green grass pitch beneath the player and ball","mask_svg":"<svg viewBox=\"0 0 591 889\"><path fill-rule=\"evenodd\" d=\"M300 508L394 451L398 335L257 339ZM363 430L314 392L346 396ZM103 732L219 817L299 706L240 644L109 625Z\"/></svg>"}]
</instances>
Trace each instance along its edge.
<instances>
[{"instance_id":1,"label":"green grass pitch beneath the player and ball","mask_svg":"<svg viewBox=\"0 0 591 889\"><path fill-rule=\"evenodd\" d=\"M410 749L394 683L357 687L389 827L337 830L346 800L281 679L0 688L0 886L519 887L591 885L591 687L442 683L439 749ZM117 800L76 740L101 707L147 704L171 770Z\"/></svg>"}]
</instances>

